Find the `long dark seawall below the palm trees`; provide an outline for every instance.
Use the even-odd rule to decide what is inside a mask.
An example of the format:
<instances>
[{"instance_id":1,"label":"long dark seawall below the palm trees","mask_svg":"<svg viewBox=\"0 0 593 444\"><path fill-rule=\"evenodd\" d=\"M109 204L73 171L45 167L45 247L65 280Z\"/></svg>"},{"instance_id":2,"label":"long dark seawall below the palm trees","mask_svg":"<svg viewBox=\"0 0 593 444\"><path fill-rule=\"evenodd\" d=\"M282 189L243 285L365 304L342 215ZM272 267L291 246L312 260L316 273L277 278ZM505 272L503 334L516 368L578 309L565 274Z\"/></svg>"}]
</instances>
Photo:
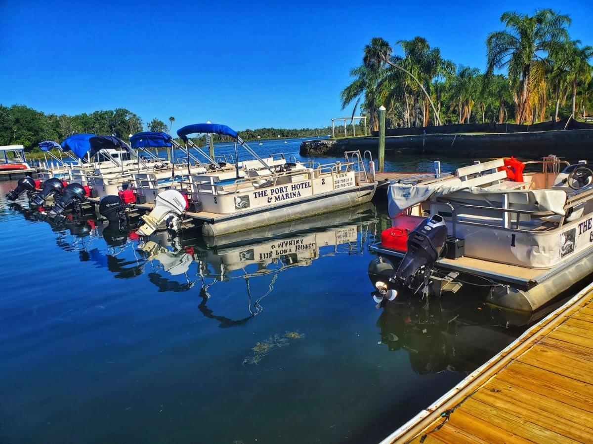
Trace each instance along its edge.
<instances>
[{"instance_id":1,"label":"long dark seawall below the palm trees","mask_svg":"<svg viewBox=\"0 0 593 444\"><path fill-rule=\"evenodd\" d=\"M377 155L377 137L336 140L305 140L301 156L342 156L347 150L371 150ZM529 133L425 134L385 137L387 153L447 157L502 157L538 159L555 154L570 162L593 161L593 130L541 131Z\"/></svg>"}]
</instances>

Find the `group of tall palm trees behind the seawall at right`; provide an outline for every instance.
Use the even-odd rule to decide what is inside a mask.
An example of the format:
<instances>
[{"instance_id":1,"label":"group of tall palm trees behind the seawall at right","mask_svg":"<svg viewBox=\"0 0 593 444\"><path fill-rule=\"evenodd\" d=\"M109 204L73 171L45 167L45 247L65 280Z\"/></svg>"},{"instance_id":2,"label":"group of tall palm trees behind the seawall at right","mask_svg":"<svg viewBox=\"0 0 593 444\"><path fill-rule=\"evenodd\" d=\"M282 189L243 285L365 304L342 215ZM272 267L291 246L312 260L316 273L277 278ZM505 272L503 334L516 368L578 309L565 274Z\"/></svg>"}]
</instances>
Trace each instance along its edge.
<instances>
[{"instance_id":1,"label":"group of tall palm trees behind the seawall at right","mask_svg":"<svg viewBox=\"0 0 593 444\"><path fill-rule=\"evenodd\" d=\"M401 56L372 38L361 65L350 70L342 109L354 103L354 113L360 105L372 130L381 105L394 128L586 117L593 110L593 47L571 40L570 17L539 9L505 12L500 21L504 29L486 38L484 70L444 59L422 37L397 41Z\"/></svg>"}]
</instances>

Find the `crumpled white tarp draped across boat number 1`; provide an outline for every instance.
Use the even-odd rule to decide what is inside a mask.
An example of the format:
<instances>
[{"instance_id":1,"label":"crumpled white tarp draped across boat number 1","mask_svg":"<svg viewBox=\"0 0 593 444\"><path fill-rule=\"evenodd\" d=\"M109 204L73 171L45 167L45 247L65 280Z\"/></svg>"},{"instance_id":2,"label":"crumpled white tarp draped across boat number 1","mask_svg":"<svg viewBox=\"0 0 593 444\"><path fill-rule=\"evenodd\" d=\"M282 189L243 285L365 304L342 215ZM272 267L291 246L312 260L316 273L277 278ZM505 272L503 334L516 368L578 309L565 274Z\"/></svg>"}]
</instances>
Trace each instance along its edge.
<instances>
[{"instance_id":1,"label":"crumpled white tarp draped across boat number 1","mask_svg":"<svg viewBox=\"0 0 593 444\"><path fill-rule=\"evenodd\" d=\"M527 195L528 205L531 211L553 211L555 214L565 215L566 192L557 189L490 189L479 186L463 186L460 182L447 184L411 185L392 184L387 191L388 210L390 217L396 217L407 208L413 207L420 202L436 199L438 197L450 198L451 200L484 200L492 195L513 194ZM512 199L510 199L512 202ZM523 208L527 209L527 208Z\"/></svg>"}]
</instances>

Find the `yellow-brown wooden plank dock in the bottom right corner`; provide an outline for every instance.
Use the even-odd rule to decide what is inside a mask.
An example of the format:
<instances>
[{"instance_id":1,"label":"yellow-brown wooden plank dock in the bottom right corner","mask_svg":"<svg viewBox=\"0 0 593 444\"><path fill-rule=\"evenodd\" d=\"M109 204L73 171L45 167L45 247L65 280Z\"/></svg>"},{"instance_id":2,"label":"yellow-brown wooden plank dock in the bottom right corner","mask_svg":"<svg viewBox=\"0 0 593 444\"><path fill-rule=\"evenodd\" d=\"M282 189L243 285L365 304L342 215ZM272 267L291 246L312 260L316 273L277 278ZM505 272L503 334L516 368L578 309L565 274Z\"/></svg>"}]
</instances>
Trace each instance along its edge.
<instances>
[{"instance_id":1,"label":"yellow-brown wooden plank dock in the bottom right corner","mask_svg":"<svg viewBox=\"0 0 593 444\"><path fill-rule=\"evenodd\" d=\"M593 442L593 284L384 443Z\"/></svg>"}]
</instances>

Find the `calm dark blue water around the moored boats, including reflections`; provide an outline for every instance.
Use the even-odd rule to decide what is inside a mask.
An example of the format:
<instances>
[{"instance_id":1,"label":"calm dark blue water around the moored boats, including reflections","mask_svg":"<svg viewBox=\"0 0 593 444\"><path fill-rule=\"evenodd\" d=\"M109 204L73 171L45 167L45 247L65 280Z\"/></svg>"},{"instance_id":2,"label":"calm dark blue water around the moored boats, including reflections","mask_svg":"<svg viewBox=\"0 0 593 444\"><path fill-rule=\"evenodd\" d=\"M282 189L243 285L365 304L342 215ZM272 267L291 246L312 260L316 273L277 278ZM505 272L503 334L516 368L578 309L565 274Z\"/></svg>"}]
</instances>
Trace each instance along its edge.
<instances>
[{"instance_id":1,"label":"calm dark blue water around the moored boats, including reflections","mask_svg":"<svg viewBox=\"0 0 593 444\"><path fill-rule=\"evenodd\" d=\"M52 225L9 206L13 186L0 442L376 442L529 321L509 326L476 288L375 309L367 247L388 219L371 204L208 246Z\"/></svg>"}]
</instances>

